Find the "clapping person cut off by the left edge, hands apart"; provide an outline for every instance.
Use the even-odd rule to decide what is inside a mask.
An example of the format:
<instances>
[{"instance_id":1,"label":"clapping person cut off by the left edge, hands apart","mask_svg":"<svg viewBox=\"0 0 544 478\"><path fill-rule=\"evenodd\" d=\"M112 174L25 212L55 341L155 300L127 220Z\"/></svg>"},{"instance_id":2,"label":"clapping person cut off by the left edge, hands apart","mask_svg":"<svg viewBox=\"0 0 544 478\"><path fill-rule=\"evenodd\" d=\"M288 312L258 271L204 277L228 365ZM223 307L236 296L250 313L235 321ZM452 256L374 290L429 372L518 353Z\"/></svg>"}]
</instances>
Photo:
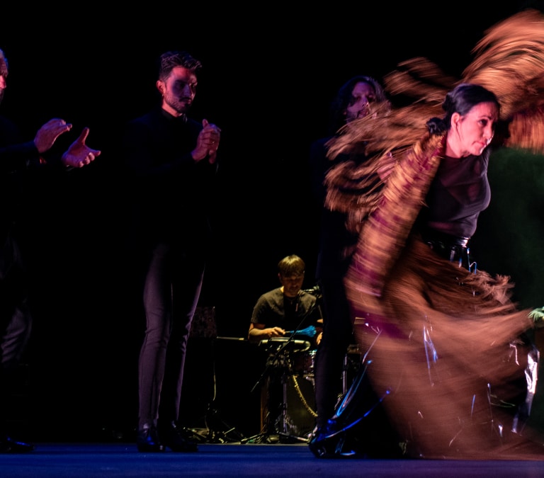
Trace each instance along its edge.
<instances>
[{"instance_id":1,"label":"clapping person cut off by the left edge, hands apart","mask_svg":"<svg viewBox=\"0 0 544 478\"><path fill-rule=\"evenodd\" d=\"M7 86L8 61L0 50L0 102ZM0 116L0 453L25 453L34 445L13 438L8 419L13 406L13 380L32 329L28 264L21 254L21 196L29 176L42 171L80 168L101 152L86 146L89 128L58 157L57 139L72 129L60 118L47 121L33 140L24 140L19 128Z\"/></svg>"}]
</instances>

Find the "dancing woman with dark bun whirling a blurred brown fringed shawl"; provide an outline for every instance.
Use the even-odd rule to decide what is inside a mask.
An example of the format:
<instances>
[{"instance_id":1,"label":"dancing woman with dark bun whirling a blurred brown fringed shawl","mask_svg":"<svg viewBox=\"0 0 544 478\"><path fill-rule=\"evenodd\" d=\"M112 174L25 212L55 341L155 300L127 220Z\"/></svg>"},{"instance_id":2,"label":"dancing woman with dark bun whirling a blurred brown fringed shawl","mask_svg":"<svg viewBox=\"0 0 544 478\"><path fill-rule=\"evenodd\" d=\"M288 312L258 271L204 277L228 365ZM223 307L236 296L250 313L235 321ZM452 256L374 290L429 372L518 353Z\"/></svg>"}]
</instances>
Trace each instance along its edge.
<instances>
[{"instance_id":1,"label":"dancing woman with dark bun whirling a blurred brown fringed shawl","mask_svg":"<svg viewBox=\"0 0 544 478\"><path fill-rule=\"evenodd\" d=\"M363 147L373 160L341 162L326 180L327 207L358 234L344 283L364 353L309 441L317 457L353 453L349 429L364 431L379 406L403 457L544 460L544 437L528 425L531 311L469 249L491 199L492 148L544 153L543 14L498 23L473 54L460 79L424 58L399 64L385 89L393 104L414 101L349 123L329 144L331 159Z\"/></svg>"}]
</instances>

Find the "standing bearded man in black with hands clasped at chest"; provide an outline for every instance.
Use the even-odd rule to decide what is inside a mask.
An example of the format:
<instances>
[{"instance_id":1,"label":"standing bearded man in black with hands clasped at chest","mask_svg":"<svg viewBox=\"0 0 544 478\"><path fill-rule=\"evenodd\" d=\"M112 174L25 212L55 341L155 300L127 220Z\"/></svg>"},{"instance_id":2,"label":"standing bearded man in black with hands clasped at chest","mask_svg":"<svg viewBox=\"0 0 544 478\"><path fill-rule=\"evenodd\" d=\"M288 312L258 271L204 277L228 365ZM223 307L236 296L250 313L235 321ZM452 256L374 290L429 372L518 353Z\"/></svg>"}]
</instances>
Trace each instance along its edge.
<instances>
[{"instance_id":1,"label":"standing bearded man in black with hands clasped at chest","mask_svg":"<svg viewBox=\"0 0 544 478\"><path fill-rule=\"evenodd\" d=\"M197 451L179 407L191 321L203 285L220 128L187 113L200 62L188 52L159 58L160 106L131 120L123 149L128 169L130 261L145 309L140 351L137 448Z\"/></svg>"}]
</instances>

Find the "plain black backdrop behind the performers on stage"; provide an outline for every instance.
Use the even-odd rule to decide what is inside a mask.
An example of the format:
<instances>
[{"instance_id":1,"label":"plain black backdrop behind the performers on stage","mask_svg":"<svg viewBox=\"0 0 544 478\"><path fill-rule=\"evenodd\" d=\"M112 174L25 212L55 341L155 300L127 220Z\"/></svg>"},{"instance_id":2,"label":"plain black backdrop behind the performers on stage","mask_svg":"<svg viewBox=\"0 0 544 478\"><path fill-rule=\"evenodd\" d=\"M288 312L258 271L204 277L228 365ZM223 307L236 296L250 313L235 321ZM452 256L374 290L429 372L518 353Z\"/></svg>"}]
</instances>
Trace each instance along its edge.
<instances>
[{"instance_id":1,"label":"plain black backdrop behind the performers on stage","mask_svg":"<svg viewBox=\"0 0 544 478\"><path fill-rule=\"evenodd\" d=\"M0 47L10 74L0 113L29 139L46 120L64 118L74 128L62 144L89 126L87 143L102 151L84 169L30 183L25 196L36 317L25 368L30 394L21 399L31 415L21 411L21 419L37 438L125 438L135 426L144 321L125 294L119 140L127 120L159 101L160 53L188 50L203 62L192 115L222 128L215 247L201 305L215 307L224 338L191 340L182 415L203 426L215 398L225 419L251 434L259 431L259 394L251 389L263 363L259 351L232 338L246 336L257 298L278 285L283 256L302 256L305 288L314 285L319 216L307 152L325 135L329 102L351 76L381 80L416 56L460 76L487 28L526 6L543 9L541 1L505 3L176 3L120 11L67 4L4 13ZM492 207L475 244L482 268L512 275L521 305L533 308L543 305L543 173L540 158L522 158L500 161L507 181L490 171ZM531 220L521 223L526 215Z\"/></svg>"}]
</instances>

